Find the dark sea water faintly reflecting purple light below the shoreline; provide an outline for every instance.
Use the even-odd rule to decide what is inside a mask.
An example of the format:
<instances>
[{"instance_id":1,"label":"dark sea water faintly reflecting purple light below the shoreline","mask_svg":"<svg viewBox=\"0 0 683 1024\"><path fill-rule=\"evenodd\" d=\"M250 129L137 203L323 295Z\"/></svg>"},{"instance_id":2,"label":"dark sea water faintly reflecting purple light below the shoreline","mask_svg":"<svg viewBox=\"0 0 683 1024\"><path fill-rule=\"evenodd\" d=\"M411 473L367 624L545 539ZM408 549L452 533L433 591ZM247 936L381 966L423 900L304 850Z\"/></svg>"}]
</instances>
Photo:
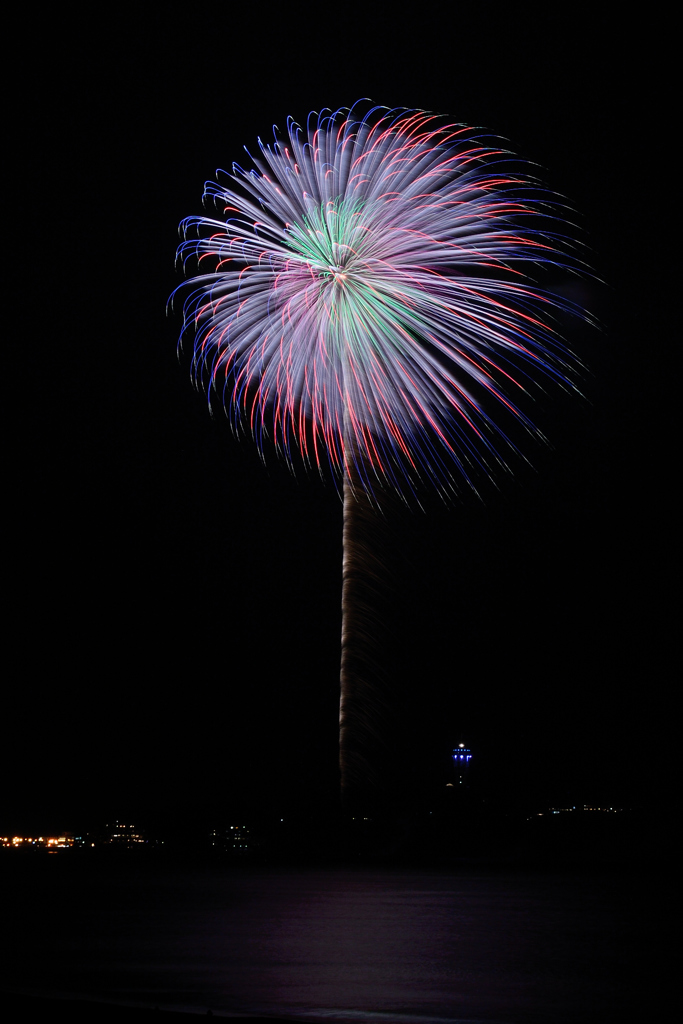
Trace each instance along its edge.
<instances>
[{"instance_id":1,"label":"dark sea water faintly reflecting purple light below the shoreline","mask_svg":"<svg viewBox=\"0 0 683 1024\"><path fill-rule=\"evenodd\" d=\"M59 856L0 872L5 991L378 1024L669 1019L643 872Z\"/></svg>"}]
</instances>

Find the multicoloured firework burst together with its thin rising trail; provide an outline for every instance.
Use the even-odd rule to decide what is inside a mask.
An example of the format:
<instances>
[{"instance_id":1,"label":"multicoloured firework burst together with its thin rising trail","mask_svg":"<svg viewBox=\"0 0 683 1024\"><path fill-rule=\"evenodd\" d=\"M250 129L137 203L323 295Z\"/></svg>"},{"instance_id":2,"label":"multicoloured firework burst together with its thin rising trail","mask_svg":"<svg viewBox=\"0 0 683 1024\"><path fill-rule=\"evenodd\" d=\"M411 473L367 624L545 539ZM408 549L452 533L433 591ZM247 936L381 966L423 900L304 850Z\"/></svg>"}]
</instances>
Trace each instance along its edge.
<instances>
[{"instance_id":1,"label":"multicoloured firework burst together with its thin rising trail","mask_svg":"<svg viewBox=\"0 0 683 1024\"><path fill-rule=\"evenodd\" d=\"M550 198L497 139L423 111L356 108L311 115L305 131L290 120L284 138L259 141L254 169L218 172L205 198L219 216L186 218L178 249L204 271L180 286L181 343L193 335L209 401L261 451L273 443L291 465L298 451L342 481L343 788L368 699L354 522L386 484L474 487L514 449L506 422L536 432L518 396L566 383L549 322L567 303L522 269L578 267L550 230Z\"/></svg>"}]
</instances>

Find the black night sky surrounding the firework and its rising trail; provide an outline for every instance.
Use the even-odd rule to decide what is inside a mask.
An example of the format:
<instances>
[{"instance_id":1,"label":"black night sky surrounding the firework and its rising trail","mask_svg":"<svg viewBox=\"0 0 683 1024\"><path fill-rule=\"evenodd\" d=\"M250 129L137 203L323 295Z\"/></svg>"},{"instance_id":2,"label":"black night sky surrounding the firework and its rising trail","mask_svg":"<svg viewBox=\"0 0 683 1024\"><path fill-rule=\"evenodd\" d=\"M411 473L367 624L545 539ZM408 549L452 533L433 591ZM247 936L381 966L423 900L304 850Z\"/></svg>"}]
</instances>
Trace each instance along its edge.
<instances>
[{"instance_id":1,"label":"black night sky surrounding the firework and its rising trail","mask_svg":"<svg viewBox=\"0 0 683 1024\"><path fill-rule=\"evenodd\" d=\"M506 800L632 804L666 778L660 40L598 15L372 9L160 7L22 39L8 827L336 799L340 501L211 421L165 304L215 168L360 96L508 137L581 211L609 286L590 298L603 333L573 339L587 399L540 411L536 471L392 524L395 785L435 777L461 736Z\"/></svg>"}]
</instances>

